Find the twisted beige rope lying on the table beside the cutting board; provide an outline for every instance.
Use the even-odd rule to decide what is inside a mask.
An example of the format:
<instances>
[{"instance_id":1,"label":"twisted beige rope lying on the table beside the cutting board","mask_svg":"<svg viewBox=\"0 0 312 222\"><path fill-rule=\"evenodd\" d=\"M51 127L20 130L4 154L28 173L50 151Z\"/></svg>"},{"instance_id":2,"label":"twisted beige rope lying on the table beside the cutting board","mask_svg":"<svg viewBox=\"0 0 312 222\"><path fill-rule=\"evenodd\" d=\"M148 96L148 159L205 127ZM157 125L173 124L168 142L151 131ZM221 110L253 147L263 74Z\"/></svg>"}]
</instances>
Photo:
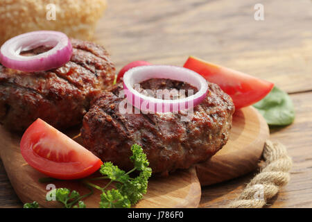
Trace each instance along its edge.
<instances>
[{"instance_id":1,"label":"twisted beige rope lying on the table beside the cutting board","mask_svg":"<svg viewBox=\"0 0 312 222\"><path fill-rule=\"evenodd\" d=\"M239 198L229 203L229 208L261 208L274 197L279 188L290 180L291 157L283 144L267 140L264 144L265 160L258 173L245 187Z\"/></svg>"}]
</instances>

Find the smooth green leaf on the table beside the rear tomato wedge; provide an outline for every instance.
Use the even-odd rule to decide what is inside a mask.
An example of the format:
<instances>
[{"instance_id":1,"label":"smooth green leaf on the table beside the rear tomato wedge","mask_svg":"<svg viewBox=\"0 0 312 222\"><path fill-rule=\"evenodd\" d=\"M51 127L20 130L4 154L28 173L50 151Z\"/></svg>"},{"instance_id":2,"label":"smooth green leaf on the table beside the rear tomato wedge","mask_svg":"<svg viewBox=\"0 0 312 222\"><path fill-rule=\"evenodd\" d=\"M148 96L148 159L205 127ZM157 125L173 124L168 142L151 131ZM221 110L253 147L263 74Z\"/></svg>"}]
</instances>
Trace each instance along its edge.
<instances>
[{"instance_id":1,"label":"smooth green leaf on the table beside the rear tomato wedge","mask_svg":"<svg viewBox=\"0 0 312 222\"><path fill-rule=\"evenodd\" d=\"M259 110L270 126L287 126L295 119L295 108L291 98L276 86L253 106Z\"/></svg>"}]
</instances>

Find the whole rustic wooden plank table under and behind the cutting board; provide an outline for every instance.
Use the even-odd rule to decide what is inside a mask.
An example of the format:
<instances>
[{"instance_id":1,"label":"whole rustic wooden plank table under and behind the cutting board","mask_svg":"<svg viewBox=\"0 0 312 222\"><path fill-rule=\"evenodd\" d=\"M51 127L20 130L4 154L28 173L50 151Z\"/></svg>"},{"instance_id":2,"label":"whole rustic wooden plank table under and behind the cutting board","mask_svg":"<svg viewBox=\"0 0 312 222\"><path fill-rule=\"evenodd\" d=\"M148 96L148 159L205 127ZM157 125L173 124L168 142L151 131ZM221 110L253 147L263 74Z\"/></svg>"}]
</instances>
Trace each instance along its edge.
<instances>
[{"instance_id":1,"label":"whole rustic wooden plank table under and behind the cutting board","mask_svg":"<svg viewBox=\"0 0 312 222\"><path fill-rule=\"evenodd\" d=\"M254 19L262 3L264 20ZM271 131L293 158L291 181L268 207L312 207L312 4L310 0L114 0L98 24L117 70L133 60L183 65L189 55L274 82L296 119ZM202 188L200 207L223 207L254 173ZM0 161L0 207L21 207Z\"/></svg>"}]
</instances>

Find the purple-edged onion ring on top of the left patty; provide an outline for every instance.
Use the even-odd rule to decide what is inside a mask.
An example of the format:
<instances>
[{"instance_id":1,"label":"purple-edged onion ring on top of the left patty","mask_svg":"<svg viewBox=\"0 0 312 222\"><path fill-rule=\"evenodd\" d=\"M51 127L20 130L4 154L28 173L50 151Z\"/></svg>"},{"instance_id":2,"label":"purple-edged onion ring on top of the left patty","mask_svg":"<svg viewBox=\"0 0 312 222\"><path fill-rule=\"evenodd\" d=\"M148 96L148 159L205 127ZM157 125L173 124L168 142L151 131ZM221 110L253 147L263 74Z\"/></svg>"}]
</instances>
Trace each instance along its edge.
<instances>
[{"instance_id":1,"label":"purple-edged onion ring on top of the left patty","mask_svg":"<svg viewBox=\"0 0 312 222\"><path fill-rule=\"evenodd\" d=\"M21 56L22 51L39 46L53 47L36 56ZM20 71L46 71L62 67L71 59L72 46L64 33L57 31L34 31L12 37L0 49L3 66Z\"/></svg>"}]
</instances>

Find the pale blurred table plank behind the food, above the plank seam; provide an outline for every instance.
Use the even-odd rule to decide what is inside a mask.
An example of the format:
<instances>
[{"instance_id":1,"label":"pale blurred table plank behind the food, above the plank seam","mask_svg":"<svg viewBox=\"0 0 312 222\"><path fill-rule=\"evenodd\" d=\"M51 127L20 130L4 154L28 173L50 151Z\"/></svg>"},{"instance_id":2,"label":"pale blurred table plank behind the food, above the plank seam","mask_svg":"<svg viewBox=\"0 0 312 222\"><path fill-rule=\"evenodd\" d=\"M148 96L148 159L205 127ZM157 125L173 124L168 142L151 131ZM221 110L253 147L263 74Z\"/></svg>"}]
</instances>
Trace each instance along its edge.
<instances>
[{"instance_id":1,"label":"pale blurred table plank behind the food, above the plank seam","mask_svg":"<svg viewBox=\"0 0 312 222\"><path fill-rule=\"evenodd\" d=\"M254 20L256 3L264 21ZM310 0L114 0L95 41L117 68L133 60L183 65L197 56L302 92L312 89L311 19Z\"/></svg>"}]
</instances>

